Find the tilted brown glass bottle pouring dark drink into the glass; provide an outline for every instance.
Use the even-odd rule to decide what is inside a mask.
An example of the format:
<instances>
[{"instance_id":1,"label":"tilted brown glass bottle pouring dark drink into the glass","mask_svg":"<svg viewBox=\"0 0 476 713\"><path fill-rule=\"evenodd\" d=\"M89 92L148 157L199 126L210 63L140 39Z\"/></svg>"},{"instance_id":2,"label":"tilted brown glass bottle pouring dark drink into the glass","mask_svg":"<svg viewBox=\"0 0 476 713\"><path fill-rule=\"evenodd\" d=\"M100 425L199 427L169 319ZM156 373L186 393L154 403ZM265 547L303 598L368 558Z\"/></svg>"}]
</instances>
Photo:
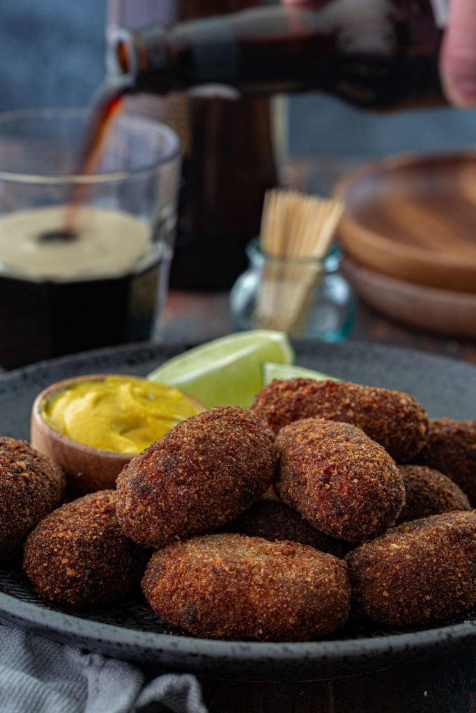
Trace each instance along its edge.
<instances>
[{"instance_id":1,"label":"tilted brown glass bottle pouring dark drink into the glass","mask_svg":"<svg viewBox=\"0 0 476 713\"><path fill-rule=\"evenodd\" d=\"M375 110L432 106L444 102L435 1L255 8L124 33L116 56L137 91L223 83L245 95L324 91Z\"/></svg>"}]
</instances>

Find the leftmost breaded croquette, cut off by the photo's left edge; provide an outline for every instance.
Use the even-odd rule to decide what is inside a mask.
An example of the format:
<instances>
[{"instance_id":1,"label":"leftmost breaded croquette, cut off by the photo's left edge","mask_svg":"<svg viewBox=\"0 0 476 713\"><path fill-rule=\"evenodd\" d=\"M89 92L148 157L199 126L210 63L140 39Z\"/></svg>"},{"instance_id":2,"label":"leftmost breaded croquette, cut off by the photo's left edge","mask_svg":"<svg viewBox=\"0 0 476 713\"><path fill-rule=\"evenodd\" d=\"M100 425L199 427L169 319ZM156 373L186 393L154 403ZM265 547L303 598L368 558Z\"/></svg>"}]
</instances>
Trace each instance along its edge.
<instances>
[{"instance_id":1,"label":"leftmost breaded croquette, cut off by the photo's left edge","mask_svg":"<svg viewBox=\"0 0 476 713\"><path fill-rule=\"evenodd\" d=\"M26 535L64 498L66 478L26 441L0 438L0 560L21 556Z\"/></svg>"}]
</instances>

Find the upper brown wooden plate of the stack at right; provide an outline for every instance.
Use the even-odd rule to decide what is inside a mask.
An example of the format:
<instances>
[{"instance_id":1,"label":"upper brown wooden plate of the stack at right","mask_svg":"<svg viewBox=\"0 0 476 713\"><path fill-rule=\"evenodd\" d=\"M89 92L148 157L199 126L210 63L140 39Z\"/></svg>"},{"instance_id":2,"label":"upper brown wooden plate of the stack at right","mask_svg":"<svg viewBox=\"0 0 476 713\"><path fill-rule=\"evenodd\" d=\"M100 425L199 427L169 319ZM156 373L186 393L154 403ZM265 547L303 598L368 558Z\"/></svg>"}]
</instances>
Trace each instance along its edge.
<instances>
[{"instance_id":1,"label":"upper brown wooden plate of the stack at right","mask_svg":"<svg viewBox=\"0 0 476 713\"><path fill-rule=\"evenodd\" d=\"M476 292L476 152L404 156L345 175L339 238L360 265L415 284Z\"/></svg>"}]
</instances>

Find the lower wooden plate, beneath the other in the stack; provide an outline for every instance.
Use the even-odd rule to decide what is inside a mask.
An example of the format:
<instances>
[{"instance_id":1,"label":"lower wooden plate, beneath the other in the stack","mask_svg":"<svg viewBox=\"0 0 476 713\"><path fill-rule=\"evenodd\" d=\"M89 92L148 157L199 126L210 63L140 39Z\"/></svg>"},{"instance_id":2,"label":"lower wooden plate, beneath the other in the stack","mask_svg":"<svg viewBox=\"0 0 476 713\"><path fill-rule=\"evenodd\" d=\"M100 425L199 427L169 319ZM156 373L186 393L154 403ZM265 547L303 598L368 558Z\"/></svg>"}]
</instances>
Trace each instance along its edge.
<instances>
[{"instance_id":1,"label":"lower wooden plate, beneath the other in the stack","mask_svg":"<svg viewBox=\"0 0 476 713\"><path fill-rule=\"evenodd\" d=\"M355 292L397 322L447 337L476 337L476 292L455 292L388 277L345 257L343 274Z\"/></svg>"}]
</instances>

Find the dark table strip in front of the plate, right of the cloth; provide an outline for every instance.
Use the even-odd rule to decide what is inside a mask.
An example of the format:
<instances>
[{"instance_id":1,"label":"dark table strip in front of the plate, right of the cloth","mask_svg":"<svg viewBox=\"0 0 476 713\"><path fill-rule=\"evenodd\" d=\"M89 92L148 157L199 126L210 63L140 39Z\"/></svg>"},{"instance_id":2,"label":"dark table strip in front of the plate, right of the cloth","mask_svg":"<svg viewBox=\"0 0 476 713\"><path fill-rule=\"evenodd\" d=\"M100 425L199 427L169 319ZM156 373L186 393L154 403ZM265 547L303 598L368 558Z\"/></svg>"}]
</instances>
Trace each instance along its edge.
<instances>
[{"instance_id":1,"label":"dark table strip in front of the plate, right of the cloth","mask_svg":"<svg viewBox=\"0 0 476 713\"><path fill-rule=\"evenodd\" d=\"M209 713L475 713L476 651L335 681L200 682Z\"/></svg>"}]
</instances>

